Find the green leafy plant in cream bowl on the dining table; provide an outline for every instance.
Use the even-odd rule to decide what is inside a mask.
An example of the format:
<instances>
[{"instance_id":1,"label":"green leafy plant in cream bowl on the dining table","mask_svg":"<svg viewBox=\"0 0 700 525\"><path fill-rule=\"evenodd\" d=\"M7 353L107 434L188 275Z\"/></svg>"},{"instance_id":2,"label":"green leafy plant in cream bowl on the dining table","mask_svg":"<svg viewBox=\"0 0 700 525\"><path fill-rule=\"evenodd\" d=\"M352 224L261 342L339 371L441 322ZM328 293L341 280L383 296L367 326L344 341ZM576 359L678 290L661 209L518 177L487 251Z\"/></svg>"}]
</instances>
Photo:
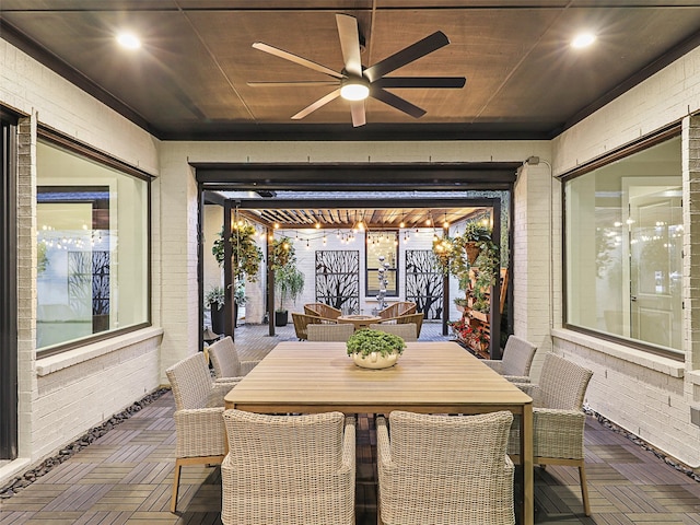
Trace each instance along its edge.
<instances>
[{"instance_id":1,"label":"green leafy plant in cream bowl on the dining table","mask_svg":"<svg viewBox=\"0 0 700 525\"><path fill-rule=\"evenodd\" d=\"M364 369L394 366L405 348L406 341L399 336L371 328L355 331L347 343L348 355Z\"/></svg>"}]
</instances>

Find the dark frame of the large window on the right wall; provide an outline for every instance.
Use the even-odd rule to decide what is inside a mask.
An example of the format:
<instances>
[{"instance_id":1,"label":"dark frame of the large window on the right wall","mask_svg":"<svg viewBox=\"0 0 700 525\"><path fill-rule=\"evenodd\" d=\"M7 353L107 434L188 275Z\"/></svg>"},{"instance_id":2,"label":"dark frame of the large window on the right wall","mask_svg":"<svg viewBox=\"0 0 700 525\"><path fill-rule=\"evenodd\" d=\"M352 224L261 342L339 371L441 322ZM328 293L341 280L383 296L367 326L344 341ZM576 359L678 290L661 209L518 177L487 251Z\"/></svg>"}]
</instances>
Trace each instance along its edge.
<instances>
[{"instance_id":1,"label":"dark frame of the large window on the right wall","mask_svg":"<svg viewBox=\"0 0 700 525\"><path fill-rule=\"evenodd\" d=\"M642 137L639 140L635 140L633 142L623 144L617 149L610 150L607 154L597 156L593 160L591 160L587 163L584 163L578 167L575 167L574 170L568 171L562 173L561 175L558 175L557 178L561 182L561 232L562 232L562 241L561 241L561 262L562 262L562 267L561 267L561 276L562 276L562 326L565 329L572 330L572 331L576 331L580 334L585 334L592 337L595 337L597 339L602 339L605 341L609 341L609 342L615 342L617 345L622 345L625 347L628 348L632 348L634 350L641 350L644 351L646 353L651 353L654 355L660 355L660 357L664 357L664 358L668 358L672 359L674 361L678 361L678 362L682 362L685 360L685 354L681 351L678 350L669 350L667 348L664 347L657 347L655 345L652 343L644 343L642 341L639 340L634 340L634 339L627 339L623 337L618 337L614 334L607 334L607 332L603 332L603 331L598 331L595 330L593 328L587 328L587 327L582 327L579 325L573 325L571 323L568 322L569 319L569 312L568 312L568 305L569 305L569 290L568 290L568 283L569 283L569 276L568 276L568 271L567 268L569 267L569 261L567 259L567 246L568 246L568 238L567 238L567 207L565 207L565 202L567 202L567 183L573 180L574 178L581 177L583 175L586 175L591 172L594 172L595 170L598 170L603 166L607 166L614 162L620 161L622 159L627 159L630 158L631 155L639 153L641 151L648 150L649 148L652 148L654 145L661 144L662 142L665 142L669 139L676 138L676 137L680 137L681 135L681 122L680 121L676 121L673 122L664 128L658 129L657 131L655 131L654 133L651 133L649 136Z\"/></svg>"}]
</instances>

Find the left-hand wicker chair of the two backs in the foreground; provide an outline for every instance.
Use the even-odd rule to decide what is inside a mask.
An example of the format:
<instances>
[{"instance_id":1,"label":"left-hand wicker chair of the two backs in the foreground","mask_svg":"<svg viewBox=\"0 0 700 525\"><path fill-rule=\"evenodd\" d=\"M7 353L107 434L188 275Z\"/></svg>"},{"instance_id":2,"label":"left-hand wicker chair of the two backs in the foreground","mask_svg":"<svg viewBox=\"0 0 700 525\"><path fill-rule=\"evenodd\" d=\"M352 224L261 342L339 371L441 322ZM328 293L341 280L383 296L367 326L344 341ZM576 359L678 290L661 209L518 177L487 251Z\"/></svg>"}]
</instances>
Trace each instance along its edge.
<instances>
[{"instance_id":1,"label":"left-hand wicker chair of the two backs in the foreground","mask_svg":"<svg viewBox=\"0 0 700 525\"><path fill-rule=\"evenodd\" d=\"M354 525L355 421L226 410L224 525Z\"/></svg>"}]
</instances>

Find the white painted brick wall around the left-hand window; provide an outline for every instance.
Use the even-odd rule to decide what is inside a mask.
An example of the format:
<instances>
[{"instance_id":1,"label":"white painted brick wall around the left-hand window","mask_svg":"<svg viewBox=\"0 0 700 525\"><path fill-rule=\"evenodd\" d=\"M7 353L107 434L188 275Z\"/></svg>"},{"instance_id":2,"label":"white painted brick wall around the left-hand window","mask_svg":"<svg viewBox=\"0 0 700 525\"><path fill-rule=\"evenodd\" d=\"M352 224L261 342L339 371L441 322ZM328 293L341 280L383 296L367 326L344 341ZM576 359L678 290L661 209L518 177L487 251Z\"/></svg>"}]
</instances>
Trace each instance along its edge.
<instances>
[{"instance_id":1,"label":"white painted brick wall around the left-hand window","mask_svg":"<svg viewBox=\"0 0 700 525\"><path fill-rule=\"evenodd\" d=\"M37 377L36 359L36 133L51 127L116 159L158 173L158 141L82 90L0 39L0 104L26 115L18 129L18 350L20 465L34 463L159 384L158 345L107 369L71 366L74 382L55 393L52 374ZM105 342L105 345L107 345ZM115 350L118 354L119 350ZM108 357L105 355L105 360ZM54 385L56 386L56 385ZM104 417L103 417L104 416ZM13 474L12 464L2 468Z\"/></svg>"}]
</instances>

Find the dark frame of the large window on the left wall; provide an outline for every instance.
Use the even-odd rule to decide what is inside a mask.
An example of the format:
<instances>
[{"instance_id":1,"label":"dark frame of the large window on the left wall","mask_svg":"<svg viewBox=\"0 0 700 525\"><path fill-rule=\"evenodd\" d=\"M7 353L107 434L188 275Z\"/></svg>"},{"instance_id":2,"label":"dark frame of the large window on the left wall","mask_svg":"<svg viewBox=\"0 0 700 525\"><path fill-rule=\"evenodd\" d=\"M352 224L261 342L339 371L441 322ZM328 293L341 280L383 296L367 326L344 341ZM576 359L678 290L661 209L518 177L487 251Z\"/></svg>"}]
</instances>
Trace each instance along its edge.
<instances>
[{"instance_id":1,"label":"dark frame of the large window on the left wall","mask_svg":"<svg viewBox=\"0 0 700 525\"><path fill-rule=\"evenodd\" d=\"M89 161L96 162L112 170L116 170L121 174L136 177L140 180L143 180L145 184L145 199L147 199L147 268L145 268L145 289L147 289L147 320L143 323L137 323L135 325L117 328L114 330L100 331L97 334L93 334L81 339L55 345L45 349L37 349L36 355L37 358L46 358L49 355L56 355L59 353L63 353L68 350L73 350L75 348L81 348L86 345L91 345L94 342L105 341L108 339L113 339L115 337L119 337L124 334L133 332L143 328L148 328L152 326L152 210L151 210L151 183L154 177L152 177L147 172L143 172L126 162L119 161L113 156L109 156L107 153L100 151L95 148L92 148L88 144L78 142L69 137L66 137L54 129L39 125L37 128L37 139L42 140L46 143L49 143L54 147L58 147L63 149L70 153L73 153L78 156L86 159Z\"/></svg>"}]
</instances>

